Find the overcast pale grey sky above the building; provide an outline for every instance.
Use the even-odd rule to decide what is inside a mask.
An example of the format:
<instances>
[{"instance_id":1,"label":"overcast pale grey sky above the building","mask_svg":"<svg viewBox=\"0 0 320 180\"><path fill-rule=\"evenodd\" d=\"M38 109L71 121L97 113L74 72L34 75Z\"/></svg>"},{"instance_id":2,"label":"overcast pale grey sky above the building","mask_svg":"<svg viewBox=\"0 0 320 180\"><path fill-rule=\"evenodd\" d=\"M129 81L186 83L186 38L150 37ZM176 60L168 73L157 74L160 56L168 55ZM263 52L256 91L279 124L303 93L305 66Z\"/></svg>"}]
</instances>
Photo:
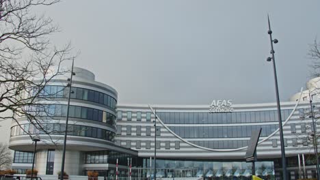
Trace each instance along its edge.
<instances>
[{"instance_id":1,"label":"overcast pale grey sky above the building","mask_svg":"<svg viewBox=\"0 0 320 180\"><path fill-rule=\"evenodd\" d=\"M308 44L320 1L62 1L42 7L81 54L75 65L118 91L118 103L275 102L267 14L280 98L310 78ZM320 37L319 37L320 40Z\"/></svg>"}]
</instances>

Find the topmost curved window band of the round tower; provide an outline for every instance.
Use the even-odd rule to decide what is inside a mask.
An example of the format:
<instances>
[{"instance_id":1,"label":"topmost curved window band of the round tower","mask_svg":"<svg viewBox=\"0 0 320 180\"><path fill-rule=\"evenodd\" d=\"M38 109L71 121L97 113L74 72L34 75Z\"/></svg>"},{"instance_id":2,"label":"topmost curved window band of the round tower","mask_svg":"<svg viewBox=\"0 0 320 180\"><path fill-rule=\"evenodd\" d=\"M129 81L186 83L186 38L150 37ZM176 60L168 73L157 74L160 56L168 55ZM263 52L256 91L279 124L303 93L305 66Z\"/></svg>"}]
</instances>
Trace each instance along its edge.
<instances>
[{"instance_id":1,"label":"topmost curved window band of the round tower","mask_svg":"<svg viewBox=\"0 0 320 180\"><path fill-rule=\"evenodd\" d=\"M72 99L96 102L116 109L117 101L110 95L81 87L71 87L71 91L70 98ZM46 86L40 92L40 95L45 97L68 97L68 94L69 89L64 86Z\"/></svg>"}]
</instances>

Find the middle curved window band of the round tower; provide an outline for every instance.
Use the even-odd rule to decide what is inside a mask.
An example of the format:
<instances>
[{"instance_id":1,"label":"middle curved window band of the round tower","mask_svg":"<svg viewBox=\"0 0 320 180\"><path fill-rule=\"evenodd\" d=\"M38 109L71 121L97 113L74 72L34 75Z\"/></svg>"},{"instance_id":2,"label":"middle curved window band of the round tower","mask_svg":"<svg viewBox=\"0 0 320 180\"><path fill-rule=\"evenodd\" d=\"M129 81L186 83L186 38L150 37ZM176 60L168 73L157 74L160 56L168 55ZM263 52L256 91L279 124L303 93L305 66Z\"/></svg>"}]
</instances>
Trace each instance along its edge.
<instances>
[{"instance_id":1,"label":"middle curved window band of the round tower","mask_svg":"<svg viewBox=\"0 0 320 180\"><path fill-rule=\"evenodd\" d=\"M47 104L32 107L29 106L28 111L31 114L37 116L66 117L68 106L62 104ZM98 110L95 108L70 105L69 117L88 119L107 123L109 125L116 125L116 116L112 115L109 112L105 112L103 110Z\"/></svg>"}]
</instances>

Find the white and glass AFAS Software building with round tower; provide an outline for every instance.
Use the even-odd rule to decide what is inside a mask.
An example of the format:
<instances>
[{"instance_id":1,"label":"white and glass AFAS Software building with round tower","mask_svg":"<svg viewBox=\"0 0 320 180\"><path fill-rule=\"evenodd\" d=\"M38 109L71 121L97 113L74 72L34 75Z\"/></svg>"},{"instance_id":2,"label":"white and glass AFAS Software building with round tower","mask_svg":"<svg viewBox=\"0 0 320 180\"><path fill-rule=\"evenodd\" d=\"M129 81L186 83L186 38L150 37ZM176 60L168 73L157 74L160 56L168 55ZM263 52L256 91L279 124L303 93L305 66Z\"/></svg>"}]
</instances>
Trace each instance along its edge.
<instances>
[{"instance_id":1,"label":"white and glass AFAS Software building with round tower","mask_svg":"<svg viewBox=\"0 0 320 180\"><path fill-rule=\"evenodd\" d=\"M150 168L150 157L154 157L156 150L157 177L248 179L252 163L245 162L245 151L252 131L261 127L255 174L264 179L281 179L276 103L232 104L232 100L215 100L203 106L118 104L116 90L96 82L92 72L76 68L75 73L66 148L65 170L69 175L97 170L100 176L114 178L118 159L119 177L128 177L129 160L132 178L146 179L153 176L154 162ZM45 127L52 130L50 137L34 130L25 119L18 120L23 129L42 139L35 162L39 175L57 175L61 168L63 134L59 132L66 123L66 84L66 79L55 79L47 87L47 91L57 92L46 102L54 117L44 117ZM311 96L317 94L318 84L317 78L307 83ZM315 177L308 93L302 91L293 95L290 102L281 103L291 179ZM316 115L317 99L314 95ZM12 167L19 172L31 168L33 148L30 136L12 122L10 149L15 150Z\"/></svg>"}]
</instances>

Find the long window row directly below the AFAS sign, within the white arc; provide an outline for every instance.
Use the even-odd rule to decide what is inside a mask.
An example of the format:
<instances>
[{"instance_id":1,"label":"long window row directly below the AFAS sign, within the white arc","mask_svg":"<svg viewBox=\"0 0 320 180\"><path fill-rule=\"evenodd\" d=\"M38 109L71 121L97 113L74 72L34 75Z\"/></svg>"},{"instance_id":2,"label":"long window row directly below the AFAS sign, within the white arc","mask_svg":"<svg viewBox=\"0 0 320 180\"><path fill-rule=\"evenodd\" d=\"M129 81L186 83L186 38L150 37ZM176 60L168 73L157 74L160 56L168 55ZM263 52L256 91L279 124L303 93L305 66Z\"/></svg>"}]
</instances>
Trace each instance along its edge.
<instances>
[{"instance_id":1,"label":"long window row directly below the AFAS sign, within the white arc","mask_svg":"<svg viewBox=\"0 0 320 180\"><path fill-rule=\"evenodd\" d=\"M289 117L291 110L281 110L282 121ZM276 110L252 112L157 112L157 115L166 124L215 124L215 123L261 123L278 122Z\"/></svg>"}]
</instances>

